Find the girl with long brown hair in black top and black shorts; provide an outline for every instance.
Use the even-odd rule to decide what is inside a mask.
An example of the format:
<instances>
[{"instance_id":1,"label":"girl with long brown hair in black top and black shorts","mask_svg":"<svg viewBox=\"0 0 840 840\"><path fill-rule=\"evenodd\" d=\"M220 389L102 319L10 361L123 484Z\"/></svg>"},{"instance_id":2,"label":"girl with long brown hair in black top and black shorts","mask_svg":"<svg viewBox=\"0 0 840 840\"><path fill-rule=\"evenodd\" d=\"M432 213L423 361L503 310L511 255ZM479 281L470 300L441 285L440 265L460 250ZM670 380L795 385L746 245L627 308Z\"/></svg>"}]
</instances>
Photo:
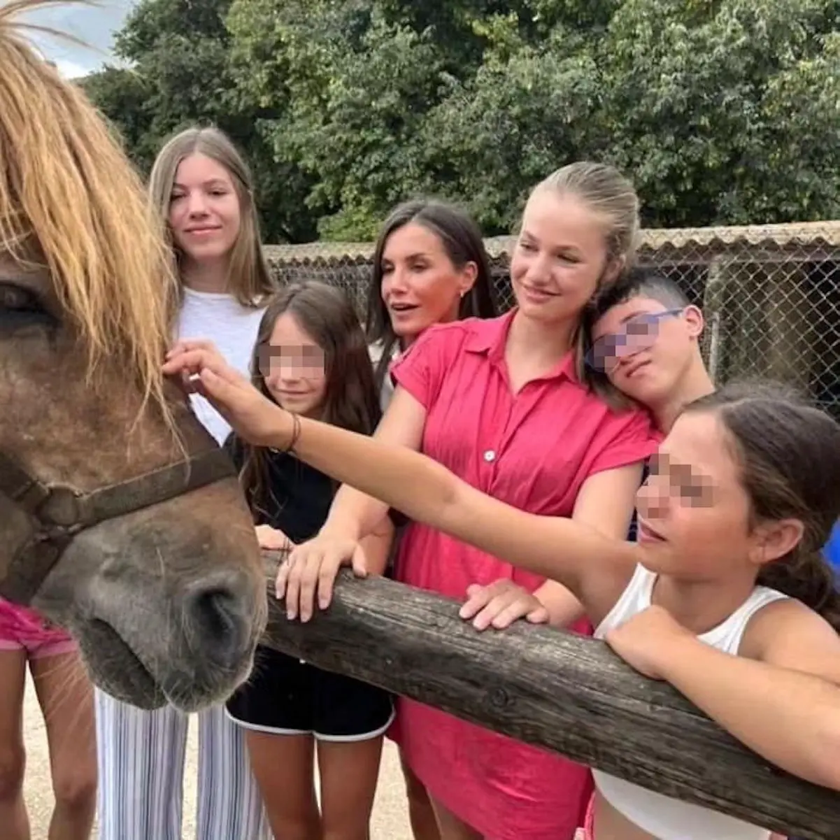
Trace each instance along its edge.
<instances>
[{"instance_id":1,"label":"girl with long brown hair in black top and black shorts","mask_svg":"<svg viewBox=\"0 0 840 840\"><path fill-rule=\"evenodd\" d=\"M271 402L352 432L380 417L365 334L342 291L287 286L260 323L252 381ZM260 543L291 549L318 533L338 485L287 452L228 439ZM385 570L387 517L365 538L371 571ZM283 840L367 840L391 696L258 648L254 674L227 704L243 727L271 830ZM313 785L318 756L321 803Z\"/></svg>"}]
</instances>

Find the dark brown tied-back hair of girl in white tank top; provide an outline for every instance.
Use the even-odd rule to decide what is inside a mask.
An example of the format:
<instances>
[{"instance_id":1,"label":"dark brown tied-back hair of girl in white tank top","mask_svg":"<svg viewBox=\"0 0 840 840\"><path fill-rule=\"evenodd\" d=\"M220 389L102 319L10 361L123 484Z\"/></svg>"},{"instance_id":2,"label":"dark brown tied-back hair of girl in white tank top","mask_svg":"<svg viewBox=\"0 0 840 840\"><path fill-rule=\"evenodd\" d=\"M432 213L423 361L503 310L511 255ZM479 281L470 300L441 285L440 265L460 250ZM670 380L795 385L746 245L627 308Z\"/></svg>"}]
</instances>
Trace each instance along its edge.
<instances>
[{"instance_id":1,"label":"dark brown tied-back hair of girl in white tank top","mask_svg":"<svg viewBox=\"0 0 840 840\"><path fill-rule=\"evenodd\" d=\"M840 425L772 382L730 383L686 407L713 411L732 442L753 522L804 525L801 542L765 564L758 582L797 598L840 632L840 593L822 556L840 517Z\"/></svg>"}]
</instances>

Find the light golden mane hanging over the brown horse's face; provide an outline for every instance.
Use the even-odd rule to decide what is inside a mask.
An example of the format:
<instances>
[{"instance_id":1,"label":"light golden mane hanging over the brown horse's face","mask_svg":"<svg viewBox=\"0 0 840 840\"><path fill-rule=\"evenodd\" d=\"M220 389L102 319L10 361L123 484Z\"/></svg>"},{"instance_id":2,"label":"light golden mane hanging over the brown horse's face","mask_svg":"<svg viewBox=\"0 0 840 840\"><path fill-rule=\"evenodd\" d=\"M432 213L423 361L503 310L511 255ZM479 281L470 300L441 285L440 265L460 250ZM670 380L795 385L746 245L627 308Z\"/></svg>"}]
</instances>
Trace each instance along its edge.
<instances>
[{"instance_id":1,"label":"light golden mane hanging over the brown horse's face","mask_svg":"<svg viewBox=\"0 0 840 840\"><path fill-rule=\"evenodd\" d=\"M177 285L164 223L116 131L24 37L61 35L19 20L57 4L0 0L0 249L50 271L86 346L89 383L103 361L121 360L143 407L171 422L160 365Z\"/></svg>"}]
</instances>

